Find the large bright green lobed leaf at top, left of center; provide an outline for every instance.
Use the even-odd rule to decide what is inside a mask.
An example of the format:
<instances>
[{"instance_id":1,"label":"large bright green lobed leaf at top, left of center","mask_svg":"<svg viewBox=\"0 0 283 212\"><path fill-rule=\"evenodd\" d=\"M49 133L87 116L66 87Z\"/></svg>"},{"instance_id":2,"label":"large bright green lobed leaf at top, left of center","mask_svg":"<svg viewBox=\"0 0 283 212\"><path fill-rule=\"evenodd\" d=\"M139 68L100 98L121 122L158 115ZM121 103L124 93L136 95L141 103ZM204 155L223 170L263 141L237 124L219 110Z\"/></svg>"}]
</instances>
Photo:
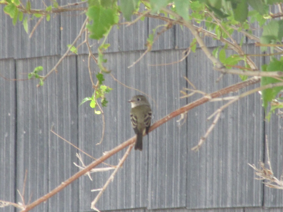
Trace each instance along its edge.
<instances>
[{"instance_id":1,"label":"large bright green lobed leaf at top, left of center","mask_svg":"<svg viewBox=\"0 0 283 212\"><path fill-rule=\"evenodd\" d=\"M86 15L92 22L87 25L91 33L89 37L97 40L102 38L119 21L117 9L104 8L101 5L89 7Z\"/></svg>"}]
</instances>

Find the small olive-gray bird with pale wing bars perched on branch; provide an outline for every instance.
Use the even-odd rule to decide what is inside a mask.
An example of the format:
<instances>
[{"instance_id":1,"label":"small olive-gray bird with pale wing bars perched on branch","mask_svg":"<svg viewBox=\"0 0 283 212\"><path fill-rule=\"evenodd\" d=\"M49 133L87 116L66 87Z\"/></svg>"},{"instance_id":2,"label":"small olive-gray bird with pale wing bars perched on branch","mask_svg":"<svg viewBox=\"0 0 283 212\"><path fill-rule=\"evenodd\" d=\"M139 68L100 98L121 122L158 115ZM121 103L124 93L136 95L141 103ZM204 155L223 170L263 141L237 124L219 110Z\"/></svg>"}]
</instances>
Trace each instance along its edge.
<instances>
[{"instance_id":1,"label":"small olive-gray bird with pale wing bars perched on branch","mask_svg":"<svg viewBox=\"0 0 283 212\"><path fill-rule=\"evenodd\" d=\"M128 102L131 103L131 123L137 134L135 150L142 150L142 137L148 133L151 122L151 108L145 96L134 96Z\"/></svg>"}]
</instances>

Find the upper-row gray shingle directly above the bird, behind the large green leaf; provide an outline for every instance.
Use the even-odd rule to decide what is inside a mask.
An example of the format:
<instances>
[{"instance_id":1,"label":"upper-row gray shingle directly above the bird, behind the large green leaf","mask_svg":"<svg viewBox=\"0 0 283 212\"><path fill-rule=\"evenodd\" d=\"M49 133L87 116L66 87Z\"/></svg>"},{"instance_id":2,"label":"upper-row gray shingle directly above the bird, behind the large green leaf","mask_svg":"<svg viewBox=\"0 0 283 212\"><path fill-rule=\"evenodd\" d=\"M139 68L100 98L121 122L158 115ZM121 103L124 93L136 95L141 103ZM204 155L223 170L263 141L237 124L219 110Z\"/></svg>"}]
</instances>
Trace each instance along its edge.
<instances>
[{"instance_id":1,"label":"upper-row gray shingle directly above the bird, behind the large green leaf","mask_svg":"<svg viewBox=\"0 0 283 212\"><path fill-rule=\"evenodd\" d=\"M72 0L72 3L77 2L76 0ZM61 1L61 4L68 4L69 0ZM80 7L87 7L87 4L81 4ZM142 10L142 8L141 8ZM84 14L81 12L67 12L68 15L61 15L61 26L63 27L61 31L61 54L65 53L67 50L67 44L71 44L76 36L79 34L82 24L86 18ZM136 17L133 16L132 20ZM126 22L123 19L121 22ZM130 26L126 26L125 24L118 26L113 26L111 29L108 38L106 39L106 43L110 44L110 47L107 49L107 52L119 52L119 51L133 51L133 50L141 50L146 49L146 39L148 35L147 30L148 20L145 18L144 21L138 21ZM85 39L85 34L83 33L82 38L78 40L75 46L80 44ZM104 38L102 38L104 39ZM101 41L100 41L101 43ZM97 40L89 38L89 44L93 53L97 53L97 48L100 44L98 44ZM78 49L79 54L88 53L87 46L83 44Z\"/></svg>"}]
</instances>

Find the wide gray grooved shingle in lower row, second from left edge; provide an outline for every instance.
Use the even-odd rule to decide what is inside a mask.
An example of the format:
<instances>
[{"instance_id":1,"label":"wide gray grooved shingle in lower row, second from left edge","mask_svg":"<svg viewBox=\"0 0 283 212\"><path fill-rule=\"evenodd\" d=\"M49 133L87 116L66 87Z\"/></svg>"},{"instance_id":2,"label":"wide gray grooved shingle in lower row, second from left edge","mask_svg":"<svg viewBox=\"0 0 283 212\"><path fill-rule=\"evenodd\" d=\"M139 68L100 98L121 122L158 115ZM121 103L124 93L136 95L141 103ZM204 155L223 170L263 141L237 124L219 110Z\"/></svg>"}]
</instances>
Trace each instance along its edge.
<instances>
[{"instance_id":1,"label":"wide gray grooved shingle in lower row, second from left edge","mask_svg":"<svg viewBox=\"0 0 283 212\"><path fill-rule=\"evenodd\" d=\"M17 60L17 79L26 79L38 65L44 73L50 70L60 57ZM37 80L17 81L17 179L16 187L23 187L25 170L27 183L25 199L41 197L60 185L76 172L74 148L50 132L54 131L74 144L77 143L76 61L67 58L57 70L37 88ZM63 68L62 68L63 67ZM62 70L62 69L63 70ZM37 211L78 210L78 182L40 204ZM17 196L16 201L20 201Z\"/></svg>"}]
</instances>

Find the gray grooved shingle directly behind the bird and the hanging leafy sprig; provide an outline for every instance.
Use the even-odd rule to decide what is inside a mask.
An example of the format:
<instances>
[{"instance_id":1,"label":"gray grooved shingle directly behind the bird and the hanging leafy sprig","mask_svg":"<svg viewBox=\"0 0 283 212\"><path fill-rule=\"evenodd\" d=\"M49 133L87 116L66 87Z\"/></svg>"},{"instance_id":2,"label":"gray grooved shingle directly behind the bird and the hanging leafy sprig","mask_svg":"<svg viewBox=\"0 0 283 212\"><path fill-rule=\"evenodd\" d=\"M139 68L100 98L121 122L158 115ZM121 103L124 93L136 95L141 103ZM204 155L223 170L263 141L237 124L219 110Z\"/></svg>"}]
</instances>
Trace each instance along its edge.
<instances>
[{"instance_id":1,"label":"gray grooved shingle directly behind the bird and the hanging leafy sprig","mask_svg":"<svg viewBox=\"0 0 283 212\"><path fill-rule=\"evenodd\" d=\"M112 74L119 81L127 86L139 88L146 92L145 85L136 86L137 73L143 72L147 63L142 60L134 68L127 69L140 55L140 52L131 53L108 53L107 68L112 70ZM87 70L87 56L78 57L79 85L78 99L79 101L86 96L91 96L89 73ZM96 67L96 66L94 66ZM97 69L92 69L92 75L95 78ZM123 74L121 74L123 73ZM136 92L125 86L115 82L110 75L106 75L105 84L112 87L110 94L106 95L109 101L108 107L104 108L106 131L105 137L100 145L99 142L102 132L101 116L94 114L93 109L89 107L89 103L85 103L79 107L79 140L80 147L94 157L100 157L104 151L108 151L126 139L134 136L130 124L130 104L127 100ZM145 147L147 144L144 144ZM112 156L107 163L116 165L123 156L121 153ZM90 162L90 159L87 159ZM102 197L97 203L97 208L101 210L123 209L123 208L140 208L147 205L147 151L140 153L132 150L123 168L118 171L113 183L109 185ZM80 205L82 210L89 210L91 201L95 198L97 192L91 193L90 189L102 187L110 176L110 172L92 174L93 181L87 177L80 179Z\"/></svg>"}]
</instances>

